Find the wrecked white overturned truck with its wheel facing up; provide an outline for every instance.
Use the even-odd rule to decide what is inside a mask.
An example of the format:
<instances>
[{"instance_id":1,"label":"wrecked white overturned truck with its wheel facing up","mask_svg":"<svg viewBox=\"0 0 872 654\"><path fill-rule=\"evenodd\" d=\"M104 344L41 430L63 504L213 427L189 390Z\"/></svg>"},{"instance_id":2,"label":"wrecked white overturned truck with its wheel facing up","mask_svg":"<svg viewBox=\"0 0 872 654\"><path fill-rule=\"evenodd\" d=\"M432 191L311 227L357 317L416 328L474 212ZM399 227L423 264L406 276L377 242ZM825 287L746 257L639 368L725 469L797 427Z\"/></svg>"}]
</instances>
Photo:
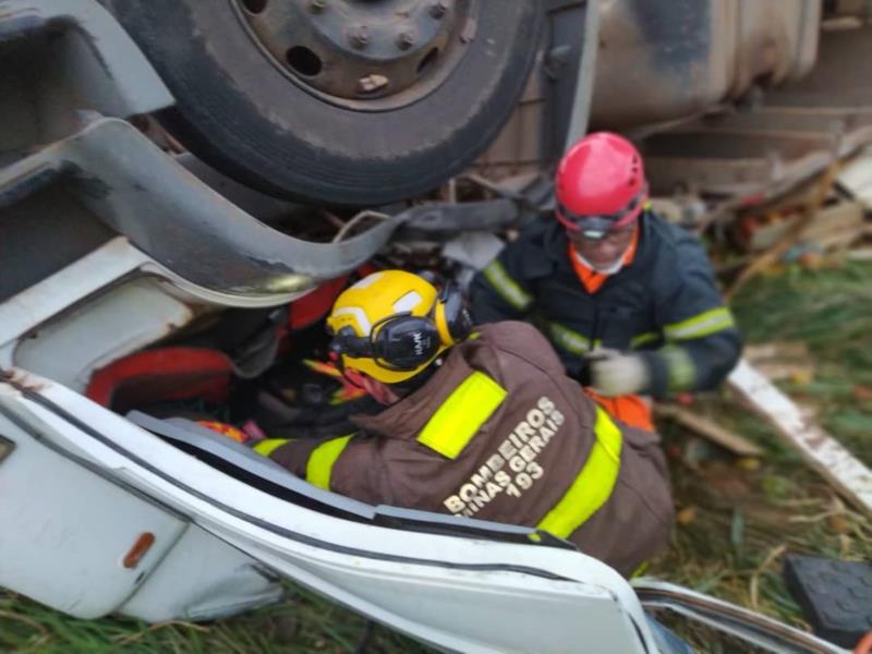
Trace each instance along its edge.
<instances>
[{"instance_id":1,"label":"wrecked white overturned truck with its wheel facing up","mask_svg":"<svg viewBox=\"0 0 872 654\"><path fill-rule=\"evenodd\" d=\"M546 211L589 125L717 207L814 174L870 138L870 32L821 31L849 5L0 1L0 585L159 621L287 577L446 650L665 652L659 607L837 651L535 529L336 496L171 402L263 391L379 253Z\"/></svg>"}]
</instances>

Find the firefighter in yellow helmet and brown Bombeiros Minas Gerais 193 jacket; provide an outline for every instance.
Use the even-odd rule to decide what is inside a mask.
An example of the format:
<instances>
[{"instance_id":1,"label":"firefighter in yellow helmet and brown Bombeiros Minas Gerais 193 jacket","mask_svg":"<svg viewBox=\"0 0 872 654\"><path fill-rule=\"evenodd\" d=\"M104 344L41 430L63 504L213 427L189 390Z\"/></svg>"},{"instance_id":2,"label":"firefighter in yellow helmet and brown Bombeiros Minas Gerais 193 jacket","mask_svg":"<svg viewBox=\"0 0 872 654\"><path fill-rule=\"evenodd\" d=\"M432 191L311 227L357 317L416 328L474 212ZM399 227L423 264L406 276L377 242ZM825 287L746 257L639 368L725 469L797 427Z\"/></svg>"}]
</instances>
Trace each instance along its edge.
<instances>
[{"instance_id":1,"label":"firefighter in yellow helmet and brown Bombeiros Minas Gerais 193 jacket","mask_svg":"<svg viewBox=\"0 0 872 654\"><path fill-rule=\"evenodd\" d=\"M614 421L525 323L472 331L458 289L402 270L346 290L327 319L343 375L384 410L360 432L257 450L373 505L535 526L625 574L665 545L658 438Z\"/></svg>"}]
</instances>

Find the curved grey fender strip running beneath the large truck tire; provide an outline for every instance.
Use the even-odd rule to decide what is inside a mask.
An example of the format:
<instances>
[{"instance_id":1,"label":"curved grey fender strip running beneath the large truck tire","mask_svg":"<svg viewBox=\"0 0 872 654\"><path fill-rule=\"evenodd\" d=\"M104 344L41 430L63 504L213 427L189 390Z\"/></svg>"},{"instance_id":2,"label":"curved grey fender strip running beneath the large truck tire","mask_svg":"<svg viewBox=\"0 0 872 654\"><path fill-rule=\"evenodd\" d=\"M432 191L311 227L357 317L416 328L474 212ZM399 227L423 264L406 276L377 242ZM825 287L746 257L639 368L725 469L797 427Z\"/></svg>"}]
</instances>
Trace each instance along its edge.
<instances>
[{"instance_id":1,"label":"curved grey fender strip running beneath the large truck tire","mask_svg":"<svg viewBox=\"0 0 872 654\"><path fill-rule=\"evenodd\" d=\"M130 123L100 119L0 170L0 197L38 190L40 171L63 184L104 222L180 277L235 294L303 291L353 270L395 230L493 228L517 216L507 199L413 207L337 243L313 243L279 232L216 193ZM40 182L41 183L41 182ZM59 207L62 210L62 207Z\"/></svg>"}]
</instances>

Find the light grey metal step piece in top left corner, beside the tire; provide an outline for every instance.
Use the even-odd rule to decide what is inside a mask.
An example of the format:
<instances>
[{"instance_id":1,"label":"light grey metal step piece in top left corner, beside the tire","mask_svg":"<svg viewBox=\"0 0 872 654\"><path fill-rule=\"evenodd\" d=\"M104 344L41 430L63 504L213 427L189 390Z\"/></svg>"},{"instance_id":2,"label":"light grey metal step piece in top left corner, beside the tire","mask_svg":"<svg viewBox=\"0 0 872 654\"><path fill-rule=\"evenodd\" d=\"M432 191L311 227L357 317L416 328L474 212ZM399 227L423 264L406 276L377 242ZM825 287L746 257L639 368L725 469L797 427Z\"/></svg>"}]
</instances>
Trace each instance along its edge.
<instances>
[{"instance_id":1,"label":"light grey metal step piece in top left corner, beside the tire","mask_svg":"<svg viewBox=\"0 0 872 654\"><path fill-rule=\"evenodd\" d=\"M129 117L174 102L96 0L0 0L0 150L68 136L82 112Z\"/></svg>"}]
</instances>

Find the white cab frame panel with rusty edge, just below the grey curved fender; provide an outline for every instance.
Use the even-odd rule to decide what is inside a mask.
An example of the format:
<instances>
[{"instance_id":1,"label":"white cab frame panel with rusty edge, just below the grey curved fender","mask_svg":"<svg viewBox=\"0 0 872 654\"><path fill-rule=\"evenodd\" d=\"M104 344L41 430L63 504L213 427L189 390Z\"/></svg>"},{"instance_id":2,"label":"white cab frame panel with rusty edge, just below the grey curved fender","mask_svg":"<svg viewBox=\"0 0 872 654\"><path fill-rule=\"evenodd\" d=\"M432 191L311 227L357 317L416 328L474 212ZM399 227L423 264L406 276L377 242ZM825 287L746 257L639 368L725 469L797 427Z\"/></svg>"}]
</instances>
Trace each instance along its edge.
<instances>
[{"instance_id":1,"label":"white cab frame panel with rusty edge, just below the grey curved fender","mask_svg":"<svg viewBox=\"0 0 872 654\"><path fill-rule=\"evenodd\" d=\"M245 296L205 289L117 238L0 303L0 366L19 365L82 390L95 367L168 336L192 319L193 307L278 306L306 292Z\"/></svg>"}]
</instances>

